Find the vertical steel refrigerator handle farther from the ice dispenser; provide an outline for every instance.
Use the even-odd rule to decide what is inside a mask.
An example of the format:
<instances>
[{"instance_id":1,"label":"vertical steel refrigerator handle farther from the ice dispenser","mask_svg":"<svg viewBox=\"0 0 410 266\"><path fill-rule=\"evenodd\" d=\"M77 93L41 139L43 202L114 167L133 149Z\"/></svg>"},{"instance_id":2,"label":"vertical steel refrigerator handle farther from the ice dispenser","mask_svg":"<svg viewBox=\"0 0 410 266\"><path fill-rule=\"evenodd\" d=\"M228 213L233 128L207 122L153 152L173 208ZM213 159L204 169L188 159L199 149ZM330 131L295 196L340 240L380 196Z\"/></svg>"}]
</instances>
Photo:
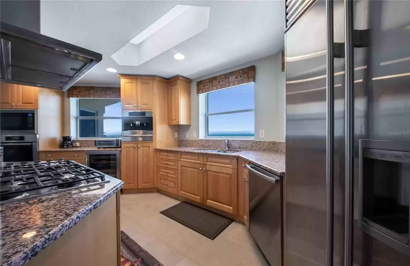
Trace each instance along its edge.
<instances>
[{"instance_id":1,"label":"vertical steel refrigerator handle farther from the ice dispenser","mask_svg":"<svg viewBox=\"0 0 410 266\"><path fill-rule=\"evenodd\" d=\"M333 265L333 150L334 150L334 58L333 1L326 1L326 265Z\"/></svg>"}]
</instances>

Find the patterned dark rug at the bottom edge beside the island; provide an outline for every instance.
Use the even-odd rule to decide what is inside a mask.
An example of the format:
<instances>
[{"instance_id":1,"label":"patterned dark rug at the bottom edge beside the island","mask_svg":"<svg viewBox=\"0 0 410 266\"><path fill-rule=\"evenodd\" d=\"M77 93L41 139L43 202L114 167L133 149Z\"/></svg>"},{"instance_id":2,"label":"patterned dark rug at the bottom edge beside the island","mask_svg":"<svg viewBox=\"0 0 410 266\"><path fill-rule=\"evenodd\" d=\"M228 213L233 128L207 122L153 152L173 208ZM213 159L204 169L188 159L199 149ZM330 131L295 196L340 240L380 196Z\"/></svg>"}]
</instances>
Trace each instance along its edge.
<instances>
[{"instance_id":1,"label":"patterned dark rug at the bottom edge beside the island","mask_svg":"<svg viewBox=\"0 0 410 266\"><path fill-rule=\"evenodd\" d=\"M121 266L164 266L121 231Z\"/></svg>"}]
</instances>

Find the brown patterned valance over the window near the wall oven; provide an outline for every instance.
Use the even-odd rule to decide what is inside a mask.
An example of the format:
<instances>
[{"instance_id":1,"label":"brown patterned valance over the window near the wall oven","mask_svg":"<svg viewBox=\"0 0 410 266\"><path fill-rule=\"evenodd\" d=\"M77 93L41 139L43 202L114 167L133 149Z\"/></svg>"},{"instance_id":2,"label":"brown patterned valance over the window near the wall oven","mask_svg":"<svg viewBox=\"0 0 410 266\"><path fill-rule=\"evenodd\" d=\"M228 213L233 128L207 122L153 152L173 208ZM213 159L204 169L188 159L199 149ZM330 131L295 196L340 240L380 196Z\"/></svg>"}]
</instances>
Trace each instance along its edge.
<instances>
[{"instance_id":1,"label":"brown patterned valance over the window near the wall oven","mask_svg":"<svg viewBox=\"0 0 410 266\"><path fill-rule=\"evenodd\" d=\"M119 87L79 87L73 86L67 90L68 98L116 98L120 99Z\"/></svg>"}]
</instances>

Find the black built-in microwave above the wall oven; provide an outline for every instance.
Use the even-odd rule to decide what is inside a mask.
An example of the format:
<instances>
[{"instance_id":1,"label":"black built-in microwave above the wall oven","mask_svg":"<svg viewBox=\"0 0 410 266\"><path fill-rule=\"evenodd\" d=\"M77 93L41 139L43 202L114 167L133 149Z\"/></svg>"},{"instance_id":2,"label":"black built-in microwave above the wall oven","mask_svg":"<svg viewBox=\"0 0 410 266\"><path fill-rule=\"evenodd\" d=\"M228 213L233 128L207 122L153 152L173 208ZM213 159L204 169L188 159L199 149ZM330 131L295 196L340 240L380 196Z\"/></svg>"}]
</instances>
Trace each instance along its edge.
<instances>
[{"instance_id":1,"label":"black built-in microwave above the wall oven","mask_svg":"<svg viewBox=\"0 0 410 266\"><path fill-rule=\"evenodd\" d=\"M0 110L1 134L38 134L37 110Z\"/></svg>"}]
</instances>

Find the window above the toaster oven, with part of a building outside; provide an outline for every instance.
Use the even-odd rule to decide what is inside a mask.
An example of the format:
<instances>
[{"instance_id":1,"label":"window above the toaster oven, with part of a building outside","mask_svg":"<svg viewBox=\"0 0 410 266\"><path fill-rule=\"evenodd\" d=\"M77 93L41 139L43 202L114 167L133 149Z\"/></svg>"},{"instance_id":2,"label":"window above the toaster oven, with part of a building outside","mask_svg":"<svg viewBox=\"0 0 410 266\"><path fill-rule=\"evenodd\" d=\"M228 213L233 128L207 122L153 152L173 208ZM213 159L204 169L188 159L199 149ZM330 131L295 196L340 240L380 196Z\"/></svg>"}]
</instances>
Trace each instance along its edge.
<instances>
[{"instance_id":1,"label":"window above the toaster oven, with part of a building outside","mask_svg":"<svg viewBox=\"0 0 410 266\"><path fill-rule=\"evenodd\" d=\"M79 98L79 138L121 137L121 99Z\"/></svg>"}]
</instances>

